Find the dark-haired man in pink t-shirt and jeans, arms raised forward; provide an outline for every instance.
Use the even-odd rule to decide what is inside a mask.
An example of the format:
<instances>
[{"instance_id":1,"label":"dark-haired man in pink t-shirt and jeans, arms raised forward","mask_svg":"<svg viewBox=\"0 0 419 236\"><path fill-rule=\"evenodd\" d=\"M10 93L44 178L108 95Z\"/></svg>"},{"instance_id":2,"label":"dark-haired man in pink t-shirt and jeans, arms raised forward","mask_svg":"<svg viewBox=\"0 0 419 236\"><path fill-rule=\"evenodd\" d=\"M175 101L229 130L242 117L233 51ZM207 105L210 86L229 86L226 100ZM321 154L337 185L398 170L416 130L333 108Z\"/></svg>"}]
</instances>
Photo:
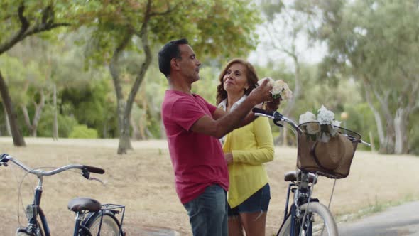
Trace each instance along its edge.
<instances>
[{"instance_id":1,"label":"dark-haired man in pink t-shirt and jeans, arms raised forward","mask_svg":"<svg viewBox=\"0 0 419 236\"><path fill-rule=\"evenodd\" d=\"M175 171L176 192L190 218L193 235L227 235L229 187L227 162L219 138L255 119L250 110L272 100L267 80L232 112L192 94L200 79L200 61L186 39L170 41L158 52L160 72L167 77L161 115ZM278 104L271 104L271 109Z\"/></svg>"}]
</instances>

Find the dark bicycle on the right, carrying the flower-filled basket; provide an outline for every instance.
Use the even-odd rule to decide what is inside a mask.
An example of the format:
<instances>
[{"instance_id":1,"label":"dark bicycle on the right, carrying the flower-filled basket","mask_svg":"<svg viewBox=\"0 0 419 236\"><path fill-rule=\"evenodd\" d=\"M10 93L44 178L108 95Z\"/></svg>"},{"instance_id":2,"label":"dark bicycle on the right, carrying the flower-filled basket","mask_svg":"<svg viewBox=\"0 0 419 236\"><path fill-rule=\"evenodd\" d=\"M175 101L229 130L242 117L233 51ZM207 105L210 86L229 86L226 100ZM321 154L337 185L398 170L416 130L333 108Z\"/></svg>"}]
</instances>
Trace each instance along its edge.
<instances>
[{"instance_id":1,"label":"dark bicycle on the right, carrying the flower-filled basket","mask_svg":"<svg viewBox=\"0 0 419 236\"><path fill-rule=\"evenodd\" d=\"M305 140L305 137L303 137L304 131L300 127L301 124L296 124L292 119L284 117L279 112L267 112L258 108L254 108L253 112L256 116L273 119L273 123L279 127L283 126L279 122L287 122L290 124L290 126L295 129L298 134L298 147L300 147L300 141ZM342 134L346 139L349 139L354 146L352 157L358 143L369 145L365 141L361 140L361 135L352 132L349 129L341 127L338 128L339 134ZM337 178L346 177L349 174L349 166L352 161L352 157L349 161L347 170L344 170L342 173L331 173L330 171L323 170L322 168L313 168L312 166L305 166L306 168L303 168L304 166L300 163L300 158L301 155L307 155L307 153L303 153L303 151L301 151L303 154L300 154L300 148L298 152L297 171L290 171L285 173L284 176L284 181L290 183L288 184L285 202L284 220L276 236L338 235L337 224L329 210L329 207L320 203L317 198L313 198L312 192L314 191L314 186L317 183L317 178L319 176L334 178L334 184L336 183ZM330 202L332 200L333 191L334 185L332 188ZM293 202L291 205L290 193L293 193Z\"/></svg>"}]
</instances>

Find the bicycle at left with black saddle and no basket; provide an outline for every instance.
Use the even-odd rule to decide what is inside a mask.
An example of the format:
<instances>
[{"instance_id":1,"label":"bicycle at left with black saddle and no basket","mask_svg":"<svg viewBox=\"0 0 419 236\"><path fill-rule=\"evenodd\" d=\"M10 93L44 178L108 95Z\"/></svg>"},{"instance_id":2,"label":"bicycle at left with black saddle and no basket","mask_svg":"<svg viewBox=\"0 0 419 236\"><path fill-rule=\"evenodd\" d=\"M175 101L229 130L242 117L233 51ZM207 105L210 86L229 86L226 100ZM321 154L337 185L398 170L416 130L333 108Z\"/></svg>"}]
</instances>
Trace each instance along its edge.
<instances>
[{"instance_id":1,"label":"bicycle at left with black saddle and no basket","mask_svg":"<svg viewBox=\"0 0 419 236\"><path fill-rule=\"evenodd\" d=\"M8 166L9 161L19 166L27 173L31 173L38 178L38 186L35 188L33 203L26 207L27 227L18 227L16 236L50 236L48 221L40 208L40 200L43 192L43 177L53 176L63 171L80 169L83 177L89 180L99 179L90 177L90 173L103 174L102 168L94 166L84 166L70 164L55 168L52 171L44 171L40 168L32 169L24 165L9 154L0 155L0 166ZM92 198L74 198L68 203L68 209L75 212L74 236L125 236L122 228L124 220L125 206L118 204L101 204ZM117 214L121 213L120 217Z\"/></svg>"}]
</instances>

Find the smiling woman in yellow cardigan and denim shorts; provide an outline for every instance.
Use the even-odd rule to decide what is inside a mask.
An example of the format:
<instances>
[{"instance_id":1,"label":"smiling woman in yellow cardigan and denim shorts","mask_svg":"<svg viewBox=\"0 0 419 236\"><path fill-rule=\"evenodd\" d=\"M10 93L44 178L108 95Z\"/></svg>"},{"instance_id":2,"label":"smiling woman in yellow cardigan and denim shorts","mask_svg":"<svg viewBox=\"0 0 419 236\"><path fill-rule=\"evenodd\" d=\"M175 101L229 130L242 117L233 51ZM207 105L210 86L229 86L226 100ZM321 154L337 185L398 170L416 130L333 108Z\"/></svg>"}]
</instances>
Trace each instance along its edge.
<instances>
[{"instance_id":1,"label":"smiling woman in yellow cardigan and denim shorts","mask_svg":"<svg viewBox=\"0 0 419 236\"><path fill-rule=\"evenodd\" d=\"M217 104L226 112L238 106L256 87L254 67L236 58L219 75ZM276 101L276 102L279 102ZM229 168L227 201L229 235L265 235L271 193L263 163L273 160L273 139L268 118L259 117L222 139Z\"/></svg>"}]
</instances>

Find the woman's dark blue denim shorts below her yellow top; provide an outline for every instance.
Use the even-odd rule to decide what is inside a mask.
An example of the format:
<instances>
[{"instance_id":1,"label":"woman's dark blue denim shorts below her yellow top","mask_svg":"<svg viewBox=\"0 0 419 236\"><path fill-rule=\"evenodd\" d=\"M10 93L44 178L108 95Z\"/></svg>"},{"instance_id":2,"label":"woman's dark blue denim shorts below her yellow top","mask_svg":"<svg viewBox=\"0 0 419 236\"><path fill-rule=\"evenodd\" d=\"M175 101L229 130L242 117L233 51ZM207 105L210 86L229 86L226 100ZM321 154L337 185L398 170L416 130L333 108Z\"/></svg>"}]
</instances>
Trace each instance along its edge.
<instances>
[{"instance_id":1,"label":"woman's dark blue denim shorts below her yellow top","mask_svg":"<svg viewBox=\"0 0 419 236\"><path fill-rule=\"evenodd\" d=\"M240 215L240 213L266 212L268 211L269 200L271 200L271 188L269 187L269 183L266 183L259 191L235 208L230 208L229 205L227 212L229 216Z\"/></svg>"}]
</instances>

